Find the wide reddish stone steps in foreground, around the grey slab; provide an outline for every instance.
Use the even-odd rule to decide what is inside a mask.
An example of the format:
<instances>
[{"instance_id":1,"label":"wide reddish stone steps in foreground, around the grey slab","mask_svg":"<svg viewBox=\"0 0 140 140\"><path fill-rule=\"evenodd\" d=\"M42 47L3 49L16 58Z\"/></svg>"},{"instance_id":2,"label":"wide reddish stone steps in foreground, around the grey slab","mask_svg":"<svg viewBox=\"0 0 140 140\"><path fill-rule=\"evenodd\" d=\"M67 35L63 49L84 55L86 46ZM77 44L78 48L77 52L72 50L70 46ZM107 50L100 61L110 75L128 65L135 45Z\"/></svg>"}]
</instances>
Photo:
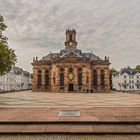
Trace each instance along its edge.
<instances>
[{"instance_id":1,"label":"wide reddish stone steps in foreground, around the grey slab","mask_svg":"<svg viewBox=\"0 0 140 140\"><path fill-rule=\"evenodd\" d=\"M0 115L0 134L140 134L139 108L121 108L121 111L120 108L93 108L90 112L79 109L80 117L60 117L59 110L1 110L3 114ZM97 114L98 111L100 114ZM8 112L11 116L6 118Z\"/></svg>"}]
</instances>

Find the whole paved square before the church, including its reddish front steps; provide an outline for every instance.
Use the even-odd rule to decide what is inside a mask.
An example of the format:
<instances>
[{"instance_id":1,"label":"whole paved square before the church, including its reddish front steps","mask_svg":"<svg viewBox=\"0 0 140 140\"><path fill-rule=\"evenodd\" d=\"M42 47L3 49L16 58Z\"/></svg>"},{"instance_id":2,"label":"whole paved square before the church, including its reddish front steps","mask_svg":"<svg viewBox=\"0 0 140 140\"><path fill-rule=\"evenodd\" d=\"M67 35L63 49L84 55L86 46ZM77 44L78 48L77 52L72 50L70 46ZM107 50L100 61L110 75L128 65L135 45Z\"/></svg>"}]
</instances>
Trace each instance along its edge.
<instances>
[{"instance_id":1,"label":"whole paved square before the church, including its reddish front steps","mask_svg":"<svg viewBox=\"0 0 140 140\"><path fill-rule=\"evenodd\" d=\"M8 93L0 95L0 110L0 133L5 134L140 133L139 94ZM62 117L60 110L80 115Z\"/></svg>"}]
</instances>

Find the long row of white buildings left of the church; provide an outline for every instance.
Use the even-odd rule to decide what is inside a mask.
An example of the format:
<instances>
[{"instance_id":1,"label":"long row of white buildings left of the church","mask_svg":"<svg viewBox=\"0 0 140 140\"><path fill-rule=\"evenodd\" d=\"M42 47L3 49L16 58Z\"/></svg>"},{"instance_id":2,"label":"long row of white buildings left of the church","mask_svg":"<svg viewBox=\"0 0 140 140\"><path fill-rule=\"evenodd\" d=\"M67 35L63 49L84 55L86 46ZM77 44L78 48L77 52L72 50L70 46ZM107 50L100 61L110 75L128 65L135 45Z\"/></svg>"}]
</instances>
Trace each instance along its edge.
<instances>
[{"instance_id":1,"label":"long row of white buildings left of the church","mask_svg":"<svg viewBox=\"0 0 140 140\"><path fill-rule=\"evenodd\" d=\"M0 76L0 92L30 90L32 79L32 74L14 66L9 73Z\"/></svg>"}]
</instances>

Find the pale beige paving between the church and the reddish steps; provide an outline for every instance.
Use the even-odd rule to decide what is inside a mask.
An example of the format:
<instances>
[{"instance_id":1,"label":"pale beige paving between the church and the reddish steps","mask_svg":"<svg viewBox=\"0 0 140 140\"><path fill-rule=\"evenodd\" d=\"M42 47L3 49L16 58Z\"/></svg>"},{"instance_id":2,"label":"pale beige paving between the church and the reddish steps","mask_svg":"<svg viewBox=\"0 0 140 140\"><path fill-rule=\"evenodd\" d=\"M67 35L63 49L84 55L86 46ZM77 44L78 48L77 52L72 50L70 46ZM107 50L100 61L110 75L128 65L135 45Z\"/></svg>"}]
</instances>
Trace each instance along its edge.
<instances>
[{"instance_id":1,"label":"pale beige paving between the church and the reddish steps","mask_svg":"<svg viewBox=\"0 0 140 140\"><path fill-rule=\"evenodd\" d=\"M140 107L140 94L132 93L34 93L0 94L0 106L41 107Z\"/></svg>"}]
</instances>

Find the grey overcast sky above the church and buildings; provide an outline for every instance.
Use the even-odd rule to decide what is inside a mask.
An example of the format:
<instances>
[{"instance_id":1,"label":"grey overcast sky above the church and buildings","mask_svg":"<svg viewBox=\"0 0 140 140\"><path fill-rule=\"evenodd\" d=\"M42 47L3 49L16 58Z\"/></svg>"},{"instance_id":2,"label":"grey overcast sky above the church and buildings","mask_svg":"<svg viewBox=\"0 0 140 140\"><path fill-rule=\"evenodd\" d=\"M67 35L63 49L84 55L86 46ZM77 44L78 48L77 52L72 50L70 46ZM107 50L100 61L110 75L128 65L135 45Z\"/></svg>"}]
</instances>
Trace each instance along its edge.
<instances>
[{"instance_id":1,"label":"grey overcast sky above the church and buildings","mask_svg":"<svg viewBox=\"0 0 140 140\"><path fill-rule=\"evenodd\" d=\"M109 56L111 67L140 64L140 0L0 0L0 14L25 70L34 56L64 48L66 28L76 28L83 52Z\"/></svg>"}]
</instances>

